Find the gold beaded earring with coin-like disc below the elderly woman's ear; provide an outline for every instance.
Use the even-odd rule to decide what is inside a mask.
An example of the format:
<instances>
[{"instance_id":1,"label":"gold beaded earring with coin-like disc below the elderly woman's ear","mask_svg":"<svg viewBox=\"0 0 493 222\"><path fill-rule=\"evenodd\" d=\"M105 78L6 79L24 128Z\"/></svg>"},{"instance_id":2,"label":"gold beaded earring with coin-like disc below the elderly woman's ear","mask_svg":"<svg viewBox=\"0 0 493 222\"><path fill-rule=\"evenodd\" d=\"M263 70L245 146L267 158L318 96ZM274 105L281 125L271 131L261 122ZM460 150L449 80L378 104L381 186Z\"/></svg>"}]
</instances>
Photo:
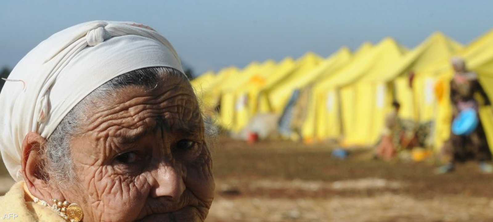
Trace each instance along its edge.
<instances>
[{"instance_id":1,"label":"gold beaded earring with coin-like disc below the elderly woman's ear","mask_svg":"<svg viewBox=\"0 0 493 222\"><path fill-rule=\"evenodd\" d=\"M80 222L84 217L82 208L76 203L70 204L67 200L62 202L57 199L53 199L54 204L52 206L49 206L46 201L39 200L37 197L33 199L33 202L51 208L51 210L55 211L55 213L68 222Z\"/></svg>"}]
</instances>

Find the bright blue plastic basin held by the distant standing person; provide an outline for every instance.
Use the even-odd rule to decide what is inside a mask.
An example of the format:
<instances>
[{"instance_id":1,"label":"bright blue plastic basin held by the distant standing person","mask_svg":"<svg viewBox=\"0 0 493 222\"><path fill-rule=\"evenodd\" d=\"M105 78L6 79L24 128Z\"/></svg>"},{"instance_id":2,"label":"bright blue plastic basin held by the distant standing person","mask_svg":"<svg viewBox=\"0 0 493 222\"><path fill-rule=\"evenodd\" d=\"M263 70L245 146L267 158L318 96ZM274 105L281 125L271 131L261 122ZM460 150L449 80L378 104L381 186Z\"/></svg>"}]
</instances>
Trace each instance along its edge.
<instances>
[{"instance_id":1,"label":"bright blue plastic basin held by the distant standing person","mask_svg":"<svg viewBox=\"0 0 493 222\"><path fill-rule=\"evenodd\" d=\"M452 133L458 136L471 134L479 124L478 113L474 109L461 111L452 122Z\"/></svg>"}]
</instances>

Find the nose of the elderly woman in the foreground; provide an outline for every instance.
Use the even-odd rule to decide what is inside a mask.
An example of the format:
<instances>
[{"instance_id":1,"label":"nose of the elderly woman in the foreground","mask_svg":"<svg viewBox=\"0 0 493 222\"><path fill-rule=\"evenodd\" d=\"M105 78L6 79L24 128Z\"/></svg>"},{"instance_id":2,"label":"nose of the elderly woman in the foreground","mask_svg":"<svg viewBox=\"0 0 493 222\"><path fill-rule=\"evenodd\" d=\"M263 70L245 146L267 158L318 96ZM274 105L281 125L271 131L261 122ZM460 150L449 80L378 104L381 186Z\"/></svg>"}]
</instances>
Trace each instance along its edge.
<instances>
[{"instance_id":1,"label":"nose of the elderly woman in the foreground","mask_svg":"<svg viewBox=\"0 0 493 222\"><path fill-rule=\"evenodd\" d=\"M151 190L151 196L154 198L166 196L171 201L177 201L185 191L183 173L180 168L179 166L161 164L156 175L154 175L156 183Z\"/></svg>"}]
</instances>

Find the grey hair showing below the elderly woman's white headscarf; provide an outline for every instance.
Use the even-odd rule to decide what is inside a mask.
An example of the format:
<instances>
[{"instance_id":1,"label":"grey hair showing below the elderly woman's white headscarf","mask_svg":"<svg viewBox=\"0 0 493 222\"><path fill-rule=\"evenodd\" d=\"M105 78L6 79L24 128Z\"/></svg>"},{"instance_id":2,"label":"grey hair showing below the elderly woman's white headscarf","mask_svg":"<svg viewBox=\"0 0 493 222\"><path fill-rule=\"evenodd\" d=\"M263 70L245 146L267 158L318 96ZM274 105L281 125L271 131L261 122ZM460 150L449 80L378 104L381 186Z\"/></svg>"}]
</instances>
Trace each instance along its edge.
<instances>
[{"instance_id":1,"label":"grey hair showing below the elderly woman's white headscarf","mask_svg":"<svg viewBox=\"0 0 493 222\"><path fill-rule=\"evenodd\" d=\"M167 67L151 67L119 75L91 92L80 101L60 122L55 131L47 138L42 151L43 176L50 183L67 185L77 178L70 154L70 141L81 133L82 123L91 107L104 105L116 90L130 86L142 86L152 89L157 82L166 77L186 79L179 71Z\"/></svg>"}]
</instances>

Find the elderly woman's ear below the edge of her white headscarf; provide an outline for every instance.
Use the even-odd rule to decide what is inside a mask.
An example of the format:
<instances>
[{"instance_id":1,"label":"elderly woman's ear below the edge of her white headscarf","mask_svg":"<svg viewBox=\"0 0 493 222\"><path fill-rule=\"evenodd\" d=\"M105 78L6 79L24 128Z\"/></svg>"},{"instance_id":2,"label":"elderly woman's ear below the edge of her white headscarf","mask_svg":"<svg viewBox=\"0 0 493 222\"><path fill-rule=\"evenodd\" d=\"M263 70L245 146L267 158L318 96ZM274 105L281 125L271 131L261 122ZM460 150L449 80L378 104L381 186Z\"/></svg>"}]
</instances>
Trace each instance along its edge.
<instances>
[{"instance_id":1,"label":"elderly woman's ear below the edge of her white headscarf","mask_svg":"<svg viewBox=\"0 0 493 222\"><path fill-rule=\"evenodd\" d=\"M35 197L51 202L52 199L63 200L62 193L57 187L48 183L48 175L44 173L44 162L41 155L46 139L38 133L30 132L22 142L22 174L29 192Z\"/></svg>"}]
</instances>

